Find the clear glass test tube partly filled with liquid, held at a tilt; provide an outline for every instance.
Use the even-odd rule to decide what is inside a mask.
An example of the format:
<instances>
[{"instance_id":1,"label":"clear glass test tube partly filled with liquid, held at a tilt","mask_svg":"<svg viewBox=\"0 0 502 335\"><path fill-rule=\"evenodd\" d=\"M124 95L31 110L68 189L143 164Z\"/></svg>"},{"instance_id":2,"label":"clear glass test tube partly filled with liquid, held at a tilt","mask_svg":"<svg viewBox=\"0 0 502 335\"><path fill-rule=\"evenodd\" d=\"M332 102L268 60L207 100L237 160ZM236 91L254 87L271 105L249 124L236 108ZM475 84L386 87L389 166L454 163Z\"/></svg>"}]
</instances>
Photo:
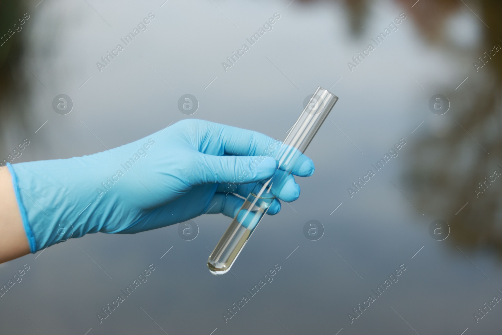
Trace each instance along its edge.
<instances>
[{"instance_id":1,"label":"clear glass test tube partly filled with liquid, held at a tilt","mask_svg":"<svg viewBox=\"0 0 502 335\"><path fill-rule=\"evenodd\" d=\"M207 267L212 274L221 275L230 270L274 201L274 194L279 194L283 183L287 180L286 177L307 149L337 100L338 97L326 89L320 86L317 88L283 144L276 150L274 158L279 162L278 170L272 178L255 186L209 256Z\"/></svg>"}]
</instances>

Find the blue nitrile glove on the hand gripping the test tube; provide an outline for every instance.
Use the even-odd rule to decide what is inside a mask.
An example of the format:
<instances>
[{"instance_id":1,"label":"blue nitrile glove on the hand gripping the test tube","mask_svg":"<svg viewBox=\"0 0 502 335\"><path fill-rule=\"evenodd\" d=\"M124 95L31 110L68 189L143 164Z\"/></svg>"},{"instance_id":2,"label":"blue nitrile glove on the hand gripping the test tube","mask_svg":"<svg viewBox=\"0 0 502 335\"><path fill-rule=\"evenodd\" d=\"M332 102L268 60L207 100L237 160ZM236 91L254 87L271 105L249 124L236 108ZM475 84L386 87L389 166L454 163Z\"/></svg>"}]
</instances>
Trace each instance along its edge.
<instances>
[{"instance_id":1,"label":"blue nitrile glove on the hand gripping the test tube","mask_svg":"<svg viewBox=\"0 0 502 335\"><path fill-rule=\"evenodd\" d=\"M270 178L281 142L203 120L184 120L90 156L10 165L31 252L87 233L134 234L208 212L234 217L257 181ZM303 156L293 174L310 176ZM290 175L278 198L293 201ZM268 210L276 214L279 200Z\"/></svg>"}]
</instances>

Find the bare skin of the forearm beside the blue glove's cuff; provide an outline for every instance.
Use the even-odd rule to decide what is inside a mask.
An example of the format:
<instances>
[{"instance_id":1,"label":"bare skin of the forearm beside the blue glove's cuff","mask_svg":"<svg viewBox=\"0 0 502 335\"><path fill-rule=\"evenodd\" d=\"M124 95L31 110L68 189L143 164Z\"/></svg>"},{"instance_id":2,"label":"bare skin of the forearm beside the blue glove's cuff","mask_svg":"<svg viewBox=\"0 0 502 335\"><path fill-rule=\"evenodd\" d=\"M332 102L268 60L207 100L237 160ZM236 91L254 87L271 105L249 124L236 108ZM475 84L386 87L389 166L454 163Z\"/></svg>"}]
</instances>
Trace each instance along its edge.
<instances>
[{"instance_id":1,"label":"bare skin of the forearm beside the blue glove's cuff","mask_svg":"<svg viewBox=\"0 0 502 335\"><path fill-rule=\"evenodd\" d=\"M30 246L21 219L12 176L3 167L0 171L0 263L30 253Z\"/></svg>"}]
</instances>

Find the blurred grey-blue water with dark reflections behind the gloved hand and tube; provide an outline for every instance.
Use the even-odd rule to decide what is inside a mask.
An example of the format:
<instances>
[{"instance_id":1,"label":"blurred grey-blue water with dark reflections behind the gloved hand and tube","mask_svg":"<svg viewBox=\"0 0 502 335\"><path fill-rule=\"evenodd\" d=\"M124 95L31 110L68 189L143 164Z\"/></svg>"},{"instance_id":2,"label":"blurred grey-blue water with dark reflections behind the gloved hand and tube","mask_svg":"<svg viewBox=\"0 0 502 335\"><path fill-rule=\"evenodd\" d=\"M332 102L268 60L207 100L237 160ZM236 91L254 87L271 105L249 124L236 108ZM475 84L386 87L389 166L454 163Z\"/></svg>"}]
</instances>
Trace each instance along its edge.
<instances>
[{"instance_id":1,"label":"blurred grey-blue water with dark reflections behind the gloved hand and tube","mask_svg":"<svg viewBox=\"0 0 502 335\"><path fill-rule=\"evenodd\" d=\"M103 151L184 118L282 140L317 86L340 98L306 152L315 174L297 178L299 200L264 218L233 275L213 276L206 267L208 249L230 223L220 214L194 219L200 232L192 241L180 238L177 225L91 234L0 265L1 285L30 266L0 298L0 332L498 331L498 304L478 323L473 313L502 298L502 181L478 197L475 191L502 172L502 53L477 72L473 62L502 46L499 2L37 0L0 7L1 34L30 16L0 46L1 156L30 141L13 163ZM148 29L99 71L96 62L149 13ZM226 57L275 13L272 31L225 72ZM350 71L347 62L401 13L398 30ZM71 97L71 113L55 113L58 94ZM183 94L199 102L191 116L178 110ZM444 115L429 109L435 94L449 99ZM400 139L399 156L351 198L347 188ZM324 227L317 241L303 234L312 219ZM437 219L448 223L443 241L429 234ZM150 264L148 282L99 323L96 313ZM276 264L273 282L225 323L222 313ZM401 264L399 281L351 323L348 313Z\"/></svg>"}]
</instances>

